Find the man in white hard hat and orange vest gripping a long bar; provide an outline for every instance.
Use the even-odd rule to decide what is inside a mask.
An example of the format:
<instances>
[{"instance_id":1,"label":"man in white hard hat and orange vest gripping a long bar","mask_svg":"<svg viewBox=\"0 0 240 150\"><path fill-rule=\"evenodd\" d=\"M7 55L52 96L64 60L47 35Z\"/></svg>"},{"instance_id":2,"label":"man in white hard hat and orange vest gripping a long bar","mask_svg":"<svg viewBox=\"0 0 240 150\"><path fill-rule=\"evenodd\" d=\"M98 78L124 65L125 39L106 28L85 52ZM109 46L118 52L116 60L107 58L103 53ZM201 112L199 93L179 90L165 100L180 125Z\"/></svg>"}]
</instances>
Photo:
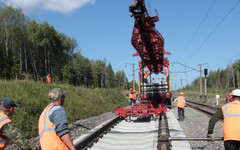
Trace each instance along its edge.
<instances>
[{"instance_id":1,"label":"man in white hard hat and orange vest gripping a long bar","mask_svg":"<svg viewBox=\"0 0 240 150\"><path fill-rule=\"evenodd\" d=\"M224 147L226 150L240 149L240 89L232 91L232 101L222 106L222 109L211 117L208 124L207 137L214 140L213 129L216 122L223 118Z\"/></svg>"}]
</instances>

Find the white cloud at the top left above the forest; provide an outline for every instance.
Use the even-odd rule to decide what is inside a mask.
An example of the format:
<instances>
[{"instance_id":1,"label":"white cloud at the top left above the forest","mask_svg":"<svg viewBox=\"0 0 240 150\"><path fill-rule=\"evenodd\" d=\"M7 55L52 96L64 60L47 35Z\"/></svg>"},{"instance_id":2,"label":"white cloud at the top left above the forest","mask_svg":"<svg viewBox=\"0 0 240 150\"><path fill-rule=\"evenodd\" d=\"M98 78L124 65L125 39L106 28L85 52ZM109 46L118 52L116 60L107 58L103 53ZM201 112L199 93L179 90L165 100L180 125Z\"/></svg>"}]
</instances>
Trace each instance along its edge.
<instances>
[{"instance_id":1,"label":"white cloud at the top left above the forest","mask_svg":"<svg viewBox=\"0 0 240 150\"><path fill-rule=\"evenodd\" d=\"M88 3L94 4L95 0L11 0L8 4L20 7L26 12L41 10L69 14Z\"/></svg>"}]
</instances>

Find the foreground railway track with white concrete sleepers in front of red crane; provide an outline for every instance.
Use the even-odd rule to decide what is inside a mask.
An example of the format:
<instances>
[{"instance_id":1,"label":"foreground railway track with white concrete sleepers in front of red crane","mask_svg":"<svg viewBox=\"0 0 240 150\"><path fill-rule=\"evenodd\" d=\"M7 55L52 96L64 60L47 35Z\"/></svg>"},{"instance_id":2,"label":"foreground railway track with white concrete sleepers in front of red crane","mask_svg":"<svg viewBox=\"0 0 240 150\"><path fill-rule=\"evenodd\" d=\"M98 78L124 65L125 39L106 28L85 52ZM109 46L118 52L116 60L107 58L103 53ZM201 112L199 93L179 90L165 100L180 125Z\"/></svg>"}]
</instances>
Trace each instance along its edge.
<instances>
[{"instance_id":1,"label":"foreground railway track with white concrete sleepers in front of red crane","mask_svg":"<svg viewBox=\"0 0 240 150\"><path fill-rule=\"evenodd\" d=\"M77 149L91 150L170 150L167 119L153 121L131 118L131 122L118 117L92 131L75 144Z\"/></svg>"}]
</instances>

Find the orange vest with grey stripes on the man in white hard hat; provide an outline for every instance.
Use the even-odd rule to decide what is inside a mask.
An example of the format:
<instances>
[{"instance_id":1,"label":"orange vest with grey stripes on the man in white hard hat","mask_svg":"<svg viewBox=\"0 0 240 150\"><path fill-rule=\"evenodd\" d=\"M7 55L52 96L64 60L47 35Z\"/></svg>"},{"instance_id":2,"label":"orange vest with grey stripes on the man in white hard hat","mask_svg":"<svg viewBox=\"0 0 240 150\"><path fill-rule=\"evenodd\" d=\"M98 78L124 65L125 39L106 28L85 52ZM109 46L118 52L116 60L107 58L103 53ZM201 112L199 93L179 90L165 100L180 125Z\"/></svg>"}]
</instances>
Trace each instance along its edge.
<instances>
[{"instance_id":1,"label":"orange vest with grey stripes on the man in white hard hat","mask_svg":"<svg viewBox=\"0 0 240 150\"><path fill-rule=\"evenodd\" d=\"M240 141L240 101L229 102L222 106L224 141Z\"/></svg>"}]
</instances>

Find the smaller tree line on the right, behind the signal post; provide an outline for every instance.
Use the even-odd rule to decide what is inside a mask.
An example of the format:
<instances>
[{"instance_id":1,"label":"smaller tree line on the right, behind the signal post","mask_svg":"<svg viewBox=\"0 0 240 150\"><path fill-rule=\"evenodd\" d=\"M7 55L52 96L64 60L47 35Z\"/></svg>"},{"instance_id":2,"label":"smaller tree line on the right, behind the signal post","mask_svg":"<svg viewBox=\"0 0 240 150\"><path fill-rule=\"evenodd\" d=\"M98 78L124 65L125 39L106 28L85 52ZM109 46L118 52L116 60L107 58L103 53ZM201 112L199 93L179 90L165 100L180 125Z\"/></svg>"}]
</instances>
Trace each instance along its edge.
<instances>
[{"instance_id":1,"label":"smaller tree line on the right, behind the signal post","mask_svg":"<svg viewBox=\"0 0 240 150\"><path fill-rule=\"evenodd\" d=\"M232 65L227 65L226 69L218 69L210 71L206 76L207 88L215 89L235 89L240 88L240 60L235 60ZM202 85L204 85L204 77L202 77ZM184 87L185 89L200 89L200 77L196 78L191 85ZM203 86L204 88L204 86Z\"/></svg>"}]
</instances>

